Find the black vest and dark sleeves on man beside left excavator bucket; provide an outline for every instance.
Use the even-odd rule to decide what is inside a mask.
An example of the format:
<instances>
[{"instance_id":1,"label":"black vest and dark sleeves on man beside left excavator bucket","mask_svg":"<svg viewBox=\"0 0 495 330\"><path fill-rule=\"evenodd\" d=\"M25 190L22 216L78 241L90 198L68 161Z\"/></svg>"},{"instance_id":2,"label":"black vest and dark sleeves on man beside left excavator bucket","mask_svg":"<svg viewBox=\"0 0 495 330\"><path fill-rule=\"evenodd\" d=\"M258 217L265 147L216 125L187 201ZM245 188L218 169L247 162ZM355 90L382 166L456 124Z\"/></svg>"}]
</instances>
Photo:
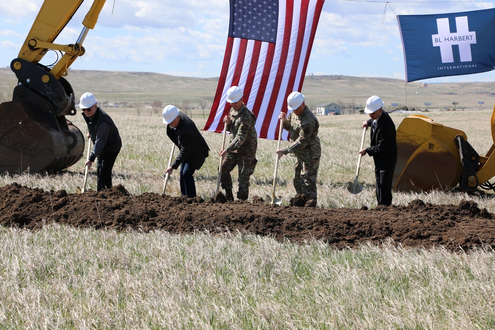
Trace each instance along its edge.
<instances>
[{"instance_id":1,"label":"black vest and dark sleeves on man beside left excavator bucket","mask_svg":"<svg viewBox=\"0 0 495 330\"><path fill-rule=\"evenodd\" d=\"M91 141L95 145L90 155L90 160L95 161L96 157L100 154L118 153L122 147L122 140L120 139L119 130L113 123L112 118L100 107L96 110L95 114L91 117L86 117L83 114L84 120L88 125ZM98 127L101 123L106 122L110 125L108 135L106 137L99 137L97 135Z\"/></svg>"}]
</instances>

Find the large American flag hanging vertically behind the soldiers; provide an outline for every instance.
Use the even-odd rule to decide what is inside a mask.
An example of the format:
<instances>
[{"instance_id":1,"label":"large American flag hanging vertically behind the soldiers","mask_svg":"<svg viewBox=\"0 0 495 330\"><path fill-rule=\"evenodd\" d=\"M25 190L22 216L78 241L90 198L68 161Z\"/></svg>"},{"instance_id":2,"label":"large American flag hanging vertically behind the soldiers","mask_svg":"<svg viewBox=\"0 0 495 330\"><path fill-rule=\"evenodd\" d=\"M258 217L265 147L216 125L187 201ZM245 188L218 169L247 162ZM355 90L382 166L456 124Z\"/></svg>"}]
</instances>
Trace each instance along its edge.
<instances>
[{"instance_id":1,"label":"large American flag hanging vertically behind the soldiers","mask_svg":"<svg viewBox=\"0 0 495 330\"><path fill-rule=\"evenodd\" d=\"M278 139L287 96L301 91L324 0L230 0L222 72L205 131L222 132L227 90L239 86L262 139ZM283 138L287 139L287 131Z\"/></svg>"}]
</instances>

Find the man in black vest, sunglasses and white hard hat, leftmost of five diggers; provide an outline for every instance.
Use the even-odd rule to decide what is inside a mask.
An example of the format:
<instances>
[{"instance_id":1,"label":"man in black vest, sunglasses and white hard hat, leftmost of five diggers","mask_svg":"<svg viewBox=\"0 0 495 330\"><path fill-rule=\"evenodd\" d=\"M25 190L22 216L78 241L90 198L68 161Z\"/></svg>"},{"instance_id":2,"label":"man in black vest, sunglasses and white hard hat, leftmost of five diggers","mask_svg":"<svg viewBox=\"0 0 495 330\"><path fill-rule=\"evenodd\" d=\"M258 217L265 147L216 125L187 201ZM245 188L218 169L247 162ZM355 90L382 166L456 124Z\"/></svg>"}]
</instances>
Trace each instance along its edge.
<instances>
[{"instance_id":1,"label":"man in black vest, sunglasses and white hard hat, leftmost of five diggers","mask_svg":"<svg viewBox=\"0 0 495 330\"><path fill-rule=\"evenodd\" d=\"M79 107L83 111L84 120L88 125L88 138L91 137L94 144L90 158L84 165L91 168L95 159L98 160L97 190L111 188L113 165L122 147L119 130L110 116L99 108L95 95L82 94Z\"/></svg>"}]
</instances>

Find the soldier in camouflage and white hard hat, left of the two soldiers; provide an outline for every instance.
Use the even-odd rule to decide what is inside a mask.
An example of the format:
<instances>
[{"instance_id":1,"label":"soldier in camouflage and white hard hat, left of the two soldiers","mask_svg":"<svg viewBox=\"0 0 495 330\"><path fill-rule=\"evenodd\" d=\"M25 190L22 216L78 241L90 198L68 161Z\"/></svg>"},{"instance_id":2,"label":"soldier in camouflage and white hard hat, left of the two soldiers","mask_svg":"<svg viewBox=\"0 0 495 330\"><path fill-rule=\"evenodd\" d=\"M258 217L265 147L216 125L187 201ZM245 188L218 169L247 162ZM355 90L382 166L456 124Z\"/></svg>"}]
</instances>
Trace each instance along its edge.
<instances>
[{"instance_id":1,"label":"soldier in camouflage and white hard hat, left of the two soldiers","mask_svg":"<svg viewBox=\"0 0 495 330\"><path fill-rule=\"evenodd\" d=\"M249 195L249 177L256 167L256 149L258 146L258 135L254 124L256 117L243 103L243 91L233 86L227 91L227 101L232 109L228 116L223 119L227 123L227 131L231 133L229 146L220 151L220 156L225 157L222 162L220 183L225 189L227 200L234 200L232 193L232 176L230 172L234 167L239 170L239 189L237 198L247 200Z\"/></svg>"}]
</instances>

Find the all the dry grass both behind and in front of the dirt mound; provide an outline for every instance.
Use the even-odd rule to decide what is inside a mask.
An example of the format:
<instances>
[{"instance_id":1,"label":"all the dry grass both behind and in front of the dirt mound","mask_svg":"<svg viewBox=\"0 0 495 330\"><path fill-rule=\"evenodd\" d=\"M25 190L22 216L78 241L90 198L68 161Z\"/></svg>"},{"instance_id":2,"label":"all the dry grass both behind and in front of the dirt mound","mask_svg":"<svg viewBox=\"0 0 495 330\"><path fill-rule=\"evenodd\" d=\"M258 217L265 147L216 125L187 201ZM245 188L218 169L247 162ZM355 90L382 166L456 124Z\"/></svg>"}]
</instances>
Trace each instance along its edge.
<instances>
[{"instance_id":1,"label":"all the dry grass both behind and in front of the dirt mound","mask_svg":"<svg viewBox=\"0 0 495 330\"><path fill-rule=\"evenodd\" d=\"M491 111L428 113L462 129L480 154L490 148ZM113 114L124 140L114 184L161 193L171 142L159 115ZM396 126L405 115L393 115ZM372 160L363 192L355 175L364 115L319 117L323 155L319 207L374 207ZM193 116L199 128L204 120ZM80 115L74 123L85 131ZM196 174L198 193L216 188L221 135L203 133L211 155ZM369 141L369 133L366 143ZM283 142L287 143L287 142ZM259 141L250 195L271 191L276 141ZM293 159L279 164L277 194L294 195ZM75 192L84 161L58 175L3 175L0 186ZM88 187L95 189L95 169ZM234 170L234 180L237 175ZM177 195L177 172L168 194ZM394 203L476 201L495 212L493 194L395 193ZM279 242L250 235L177 236L165 232L0 229L0 329L494 329L495 254L480 249L410 250L365 245L334 250L323 242Z\"/></svg>"}]
</instances>

